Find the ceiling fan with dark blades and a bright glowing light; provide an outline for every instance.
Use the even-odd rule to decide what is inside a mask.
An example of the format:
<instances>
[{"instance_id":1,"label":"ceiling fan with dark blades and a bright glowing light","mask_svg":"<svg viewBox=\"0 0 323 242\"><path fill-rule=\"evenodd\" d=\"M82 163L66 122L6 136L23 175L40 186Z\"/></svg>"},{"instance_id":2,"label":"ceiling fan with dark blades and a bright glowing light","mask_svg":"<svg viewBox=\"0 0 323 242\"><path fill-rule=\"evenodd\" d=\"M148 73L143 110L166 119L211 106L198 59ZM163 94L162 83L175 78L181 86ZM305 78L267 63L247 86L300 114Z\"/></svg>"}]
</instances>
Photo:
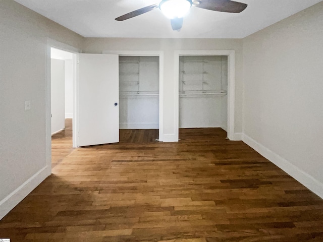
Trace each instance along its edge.
<instances>
[{"instance_id":1,"label":"ceiling fan with dark blades and a bright glowing light","mask_svg":"<svg viewBox=\"0 0 323 242\"><path fill-rule=\"evenodd\" d=\"M166 17L171 19L172 29L180 31L183 25L183 17L192 6L226 13L240 13L247 8L247 4L231 0L161 0L159 4L137 9L116 18L116 20L124 21L159 8Z\"/></svg>"}]
</instances>

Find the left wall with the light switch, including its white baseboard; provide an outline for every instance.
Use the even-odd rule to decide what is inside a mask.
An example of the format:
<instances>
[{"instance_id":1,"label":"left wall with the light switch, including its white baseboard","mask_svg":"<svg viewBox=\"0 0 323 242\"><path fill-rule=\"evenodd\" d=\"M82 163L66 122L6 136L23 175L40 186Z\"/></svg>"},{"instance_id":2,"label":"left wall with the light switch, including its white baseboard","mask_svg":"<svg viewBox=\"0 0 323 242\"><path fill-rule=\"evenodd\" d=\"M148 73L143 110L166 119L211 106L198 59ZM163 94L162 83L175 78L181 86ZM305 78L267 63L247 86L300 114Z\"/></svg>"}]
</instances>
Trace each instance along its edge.
<instances>
[{"instance_id":1,"label":"left wall with the light switch, including its white baseboard","mask_svg":"<svg viewBox=\"0 0 323 242\"><path fill-rule=\"evenodd\" d=\"M77 48L83 41L12 0L0 1L0 218L50 174L48 37Z\"/></svg>"}]
</instances>

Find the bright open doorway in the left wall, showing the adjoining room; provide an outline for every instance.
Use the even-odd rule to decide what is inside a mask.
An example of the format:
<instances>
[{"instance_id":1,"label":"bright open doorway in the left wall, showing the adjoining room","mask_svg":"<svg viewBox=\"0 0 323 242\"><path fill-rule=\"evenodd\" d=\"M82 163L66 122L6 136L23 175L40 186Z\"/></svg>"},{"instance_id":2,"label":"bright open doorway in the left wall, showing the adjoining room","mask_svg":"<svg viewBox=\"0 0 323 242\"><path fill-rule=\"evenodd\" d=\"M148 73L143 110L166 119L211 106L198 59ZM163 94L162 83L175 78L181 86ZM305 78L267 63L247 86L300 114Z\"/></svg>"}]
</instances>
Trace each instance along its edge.
<instances>
[{"instance_id":1,"label":"bright open doorway in the left wall, showing the adjoining room","mask_svg":"<svg viewBox=\"0 0 323 242\"><path fill-rule=\"evenodd\" d=\"M73 150L73 56L50 48L51 167Z\"/></svg>"}]
</instances>

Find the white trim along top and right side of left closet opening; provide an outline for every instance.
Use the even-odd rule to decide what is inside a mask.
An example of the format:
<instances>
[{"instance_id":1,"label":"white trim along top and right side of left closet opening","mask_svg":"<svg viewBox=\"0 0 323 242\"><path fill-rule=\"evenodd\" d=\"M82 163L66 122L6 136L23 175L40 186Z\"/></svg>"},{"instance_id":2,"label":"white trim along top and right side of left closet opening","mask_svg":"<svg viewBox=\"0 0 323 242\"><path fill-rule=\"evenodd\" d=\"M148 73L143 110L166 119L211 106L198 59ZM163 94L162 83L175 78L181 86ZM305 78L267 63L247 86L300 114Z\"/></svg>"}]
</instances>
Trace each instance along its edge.
<instances>
[{"instance_id":1,"label":"white trim along top and right side of left closet opening","mask_svg":"<svg viewBox=\"0 0 323 242\"><path fill-rule=\"evenodd\" d=\"M164 141L164 51L162 50L106 50L102 54L119 56L158 56L159 57L159 141Z\"/></svg>"}]
</instances>

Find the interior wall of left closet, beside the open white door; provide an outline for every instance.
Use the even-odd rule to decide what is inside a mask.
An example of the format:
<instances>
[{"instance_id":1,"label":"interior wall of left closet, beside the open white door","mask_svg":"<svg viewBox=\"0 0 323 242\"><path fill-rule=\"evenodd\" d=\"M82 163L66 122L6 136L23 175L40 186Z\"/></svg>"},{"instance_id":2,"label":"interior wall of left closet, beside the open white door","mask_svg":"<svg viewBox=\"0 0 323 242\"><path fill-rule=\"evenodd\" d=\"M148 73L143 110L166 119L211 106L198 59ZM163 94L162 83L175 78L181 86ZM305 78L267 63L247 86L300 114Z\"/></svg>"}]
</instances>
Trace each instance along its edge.
<instances>
[{"instance_id":1,"label":"interior wall of left closet, beside the open white door","mask_svg":"<svg viewBox=\"0 0 323 242\"><path fill-rule=\"evenodd\" d=\"M120 129L159 128L159 57L119 56Z\"/></svg>"}]
</instances>

